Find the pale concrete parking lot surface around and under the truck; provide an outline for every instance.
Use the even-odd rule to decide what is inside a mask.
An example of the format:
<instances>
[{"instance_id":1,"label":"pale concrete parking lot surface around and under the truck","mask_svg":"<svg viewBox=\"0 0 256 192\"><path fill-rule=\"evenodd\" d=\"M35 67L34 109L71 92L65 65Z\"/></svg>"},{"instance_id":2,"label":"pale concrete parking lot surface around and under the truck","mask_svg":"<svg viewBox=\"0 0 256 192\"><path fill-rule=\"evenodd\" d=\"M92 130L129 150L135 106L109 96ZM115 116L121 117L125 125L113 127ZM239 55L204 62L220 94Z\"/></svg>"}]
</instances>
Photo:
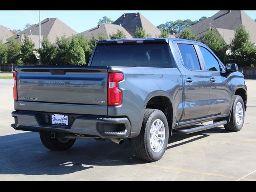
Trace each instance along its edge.
<instances>
[{"instance_id":1,"label":"pale concrete parking lot surface around and under the truck","mask_svg":"<svg viewBox=\"0 0 256 192\"><path fill-rule=\"evenodd\" d=\"M223 126L189 135L173 135L163 158L138 160L131 143L76 140L64 152L46 149L36 132L17 131L13 80L0 80L0 181L4 180L154 180L256 181L256 80L246 80L248 103L244 127Z\"/></svg>"}]
</instances>

